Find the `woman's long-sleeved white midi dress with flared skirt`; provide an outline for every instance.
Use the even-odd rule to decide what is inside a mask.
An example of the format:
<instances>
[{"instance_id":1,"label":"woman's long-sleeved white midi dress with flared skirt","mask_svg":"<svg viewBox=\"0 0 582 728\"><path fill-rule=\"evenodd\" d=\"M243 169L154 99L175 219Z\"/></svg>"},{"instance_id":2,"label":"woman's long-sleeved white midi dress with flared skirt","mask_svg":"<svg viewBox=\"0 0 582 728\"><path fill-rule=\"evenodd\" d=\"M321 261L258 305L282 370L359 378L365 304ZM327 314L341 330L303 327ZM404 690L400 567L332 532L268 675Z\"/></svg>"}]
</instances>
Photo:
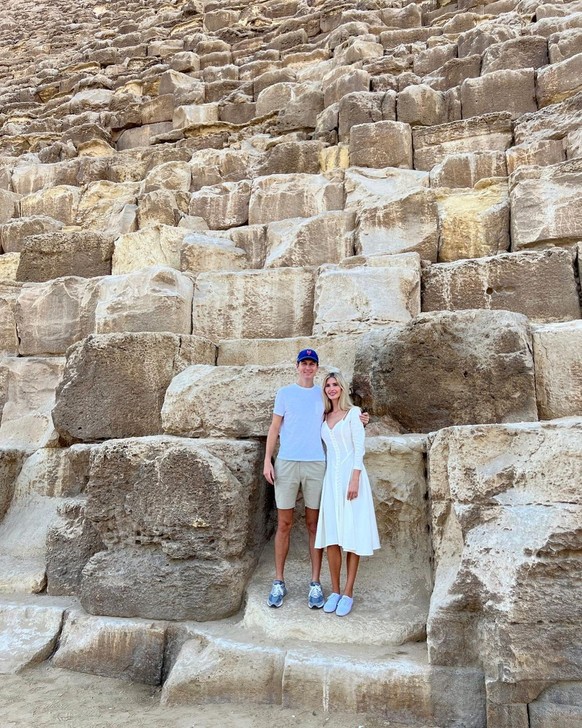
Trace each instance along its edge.
<instances>
[{"instance_id":1,"label":"woman's long-sleeved white midi dress with flared skirt","mask_svg":"<svg viewBox=\"0 0 582 728\"><path fill-rule=\"evenodd\" d=\"M321 426L327 450L327 465L321 493L315 547L339 544L344 551L370 556L380 548L372 489L364 467L364 426L359 407L348 413L330 429ZM347 500L353 470L361 470L358 497Z\"/></svg>"}]
</instances>

